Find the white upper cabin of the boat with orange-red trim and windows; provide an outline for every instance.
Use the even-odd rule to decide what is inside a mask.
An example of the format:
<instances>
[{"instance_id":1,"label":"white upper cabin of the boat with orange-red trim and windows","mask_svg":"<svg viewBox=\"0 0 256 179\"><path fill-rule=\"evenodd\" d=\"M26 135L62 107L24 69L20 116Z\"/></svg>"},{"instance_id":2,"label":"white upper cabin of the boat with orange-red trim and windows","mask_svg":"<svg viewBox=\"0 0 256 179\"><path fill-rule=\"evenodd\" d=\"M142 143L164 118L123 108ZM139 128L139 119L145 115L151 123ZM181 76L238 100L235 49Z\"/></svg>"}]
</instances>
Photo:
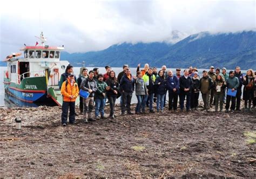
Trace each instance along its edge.
<instances>
[{"instance_id":1,"label":"white upper cabin of the boat with orange-red trim and windows","mask_svg":"<svg viewBox=\"0 0 256 179\"><path fill-rule=\"evenodd\" d=\"M8 72L11 82L21 84L22 79L31 77L49 76L48 86L58 86L60 75L65 72L68 61L60 61L60 51L64 47L45 46L24 46L23 58L18 58L16 54L9 56ZM47 70L47 74L45 74Z\"/></svg>"}]
</instances>

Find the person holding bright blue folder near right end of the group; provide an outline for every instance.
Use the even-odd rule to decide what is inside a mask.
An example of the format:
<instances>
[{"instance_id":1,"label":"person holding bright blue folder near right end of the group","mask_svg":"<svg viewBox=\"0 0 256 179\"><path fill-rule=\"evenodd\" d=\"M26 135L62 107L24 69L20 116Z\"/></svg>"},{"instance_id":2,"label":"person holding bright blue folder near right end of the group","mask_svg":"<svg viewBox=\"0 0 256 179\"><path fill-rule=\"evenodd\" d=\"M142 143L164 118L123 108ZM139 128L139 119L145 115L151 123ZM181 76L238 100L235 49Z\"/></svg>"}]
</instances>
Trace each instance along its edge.
<instances>
[{"instance_id":1,"label":"person holding bright blue folder near right end of the group","mask_svg":"<svg viewBox=\"0 0 256 179\"><path fill-rule=\"evenodd\" d=\"M231 112L234 112L235 109L235 95L237 94L237 88L239 87L239 80L234 76L234 71L230 71L230 75L226 80L227 84L227 100L226 100L226 113L228 113L228 109L230 108L231 101Z\"/></svg>"}]
</instances>

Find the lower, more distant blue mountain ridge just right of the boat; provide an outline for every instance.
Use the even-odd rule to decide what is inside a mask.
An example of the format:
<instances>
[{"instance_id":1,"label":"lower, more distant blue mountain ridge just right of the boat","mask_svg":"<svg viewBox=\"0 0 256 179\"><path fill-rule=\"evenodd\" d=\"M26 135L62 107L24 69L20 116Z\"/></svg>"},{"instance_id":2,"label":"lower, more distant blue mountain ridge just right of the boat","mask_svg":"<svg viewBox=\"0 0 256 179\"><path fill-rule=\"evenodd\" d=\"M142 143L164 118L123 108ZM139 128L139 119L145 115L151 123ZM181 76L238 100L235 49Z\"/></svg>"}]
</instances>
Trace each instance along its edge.
<instances>
[{"instance_id":1,"label":"lower, more distant blue mountain ridge just right of the boat","mask_svg":"<svg viewBox=\"0 0 256 179\"><path fill-rule=\"evenodd\" d=\"M124 64L137 66L159 59L169 52L172 44L167 43L123 43L112 45L109 48L98 52L68 53L62 52L61 59L68 60L74 66L105 66L120 67Z\"/></svg>"}]
</instances>

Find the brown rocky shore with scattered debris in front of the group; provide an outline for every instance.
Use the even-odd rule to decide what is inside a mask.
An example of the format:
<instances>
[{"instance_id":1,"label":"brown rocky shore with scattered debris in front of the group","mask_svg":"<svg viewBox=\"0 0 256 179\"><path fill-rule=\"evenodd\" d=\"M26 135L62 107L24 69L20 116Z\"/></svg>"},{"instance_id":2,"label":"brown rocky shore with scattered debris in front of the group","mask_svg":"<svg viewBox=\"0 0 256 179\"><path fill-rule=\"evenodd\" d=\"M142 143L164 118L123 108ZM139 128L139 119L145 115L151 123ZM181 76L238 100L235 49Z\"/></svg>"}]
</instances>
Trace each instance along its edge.
<instances>
[{"instance_id":1,"label":"brown rocky shore with scattered debris in front of the group","mask_svg":"<svg viewBox=\"0 0 256 179\"><path fill-rule=\"evenodd\" d=\"M1 177L256 177L256 109L165 108L89 124L80 115L66 127L57 106L0 108L0 114Z\"/></svg>"}]
</instances>

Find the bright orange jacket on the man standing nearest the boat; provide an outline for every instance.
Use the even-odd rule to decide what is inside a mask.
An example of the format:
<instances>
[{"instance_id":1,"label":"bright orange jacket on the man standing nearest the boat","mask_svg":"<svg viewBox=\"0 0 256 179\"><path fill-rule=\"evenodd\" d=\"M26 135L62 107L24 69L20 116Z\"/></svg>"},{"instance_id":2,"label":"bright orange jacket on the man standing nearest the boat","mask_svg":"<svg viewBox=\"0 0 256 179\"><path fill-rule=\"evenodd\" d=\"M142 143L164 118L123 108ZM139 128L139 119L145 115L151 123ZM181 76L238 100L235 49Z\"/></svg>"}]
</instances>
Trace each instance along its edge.
<instances>
[{"instance_id":1,"label":"bright orange jacket on the man standing nearest the boat","mask_svg":"<svg viewBox=\"0 0 256 179\"><path fill-rule=\"evenodd\" d=\"M62 84L62 88L60 89L60 93L63 95L63 101L66 101L66 102L76 101L76 98L78 97L78 94L79 94L77 83L74 82L73 86L71 86L69 79L68 79L68 85L66 85L66 81L64 81ZM71 95L74 96L73 99L70 98Z\"/></svg>"}]
</instances>

